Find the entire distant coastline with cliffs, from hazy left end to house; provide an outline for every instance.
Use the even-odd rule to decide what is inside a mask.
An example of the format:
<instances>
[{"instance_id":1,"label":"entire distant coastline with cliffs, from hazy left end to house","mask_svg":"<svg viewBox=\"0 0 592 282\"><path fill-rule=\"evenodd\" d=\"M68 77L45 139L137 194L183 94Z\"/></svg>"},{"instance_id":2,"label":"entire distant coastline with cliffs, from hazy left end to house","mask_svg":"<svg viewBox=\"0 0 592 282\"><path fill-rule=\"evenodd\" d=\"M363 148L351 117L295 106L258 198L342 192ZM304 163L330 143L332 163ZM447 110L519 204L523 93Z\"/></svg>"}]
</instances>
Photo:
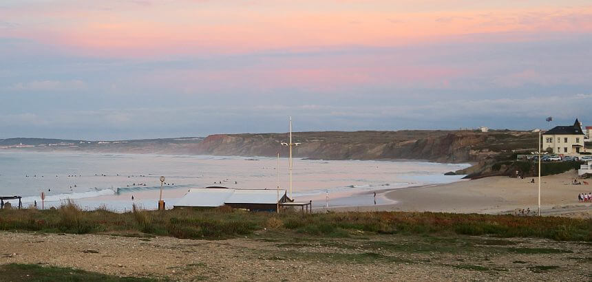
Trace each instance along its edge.
<instances>
[{"instance_id":1,"label":"entire distant coastline with cliffs, from hazy left end to house","mask_svg":"<svg viewBox=\"0 0 592 282\"><path fill-rule=\"evenodd\" d=\"M478 177L518 169L516 154L536 151L538 133L529 131L320 131L293 133L296 158L321 160L427 160L469 162L456 171ZM121 141L51 140L12 138L0 140L0 149L27 151L79 151L88 153L160 153L187 155L288 155L287 133L215 134L207 138L165 138ZM495 165L499 164L499 165Z\"/></svg>"}]
</instances>

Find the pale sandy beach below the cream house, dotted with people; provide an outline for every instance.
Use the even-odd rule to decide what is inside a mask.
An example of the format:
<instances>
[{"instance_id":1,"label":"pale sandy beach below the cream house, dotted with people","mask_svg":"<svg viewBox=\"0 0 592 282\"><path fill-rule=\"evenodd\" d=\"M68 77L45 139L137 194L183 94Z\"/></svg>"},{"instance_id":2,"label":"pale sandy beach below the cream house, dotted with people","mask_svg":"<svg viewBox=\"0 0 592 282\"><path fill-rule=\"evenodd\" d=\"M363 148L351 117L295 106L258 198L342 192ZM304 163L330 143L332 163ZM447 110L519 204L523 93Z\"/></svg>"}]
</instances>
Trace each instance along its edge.
<instances>
[{"instance_id":1,"label":"pale sandy beach below the cream house, dotted with people","mask_svg":"<svg viewBox=\"0 0 592 282\"><path fill-rule=\"evenodd\" d=\"M592 218L592 203L579 203L579 193L592 192L592 185L571 184L575 171L542 177L542 215ZM335 207L332 210L404 210L446 213L514 213L537 210L538 184L532 178L486 177L452 184L421 186L383 191L395 204L360 207ZM581 181L581 180L580 180Z\"/></svg>"}]
</instances>

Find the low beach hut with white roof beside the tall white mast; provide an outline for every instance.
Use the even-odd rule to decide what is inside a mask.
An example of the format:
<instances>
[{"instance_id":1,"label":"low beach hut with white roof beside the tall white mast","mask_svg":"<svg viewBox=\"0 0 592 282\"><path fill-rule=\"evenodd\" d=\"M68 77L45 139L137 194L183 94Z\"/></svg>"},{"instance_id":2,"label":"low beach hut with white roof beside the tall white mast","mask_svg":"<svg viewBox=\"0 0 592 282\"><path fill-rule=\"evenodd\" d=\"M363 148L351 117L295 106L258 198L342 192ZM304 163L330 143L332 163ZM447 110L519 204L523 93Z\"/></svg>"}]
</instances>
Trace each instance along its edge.
<instances>
[{"instance_id":1,"label":"low beach hut with white roof beside the tall white mast","mask_svg":"<svg viewBox=\"0 0 592 282\"><path fill-rule=\"evenodd\" d=\"M214 208L231 206L251 211L276 211L278 204L292 202L285 190L234 189L234 188L192 188L174 208Z\"/></svg>"}]
</instances>

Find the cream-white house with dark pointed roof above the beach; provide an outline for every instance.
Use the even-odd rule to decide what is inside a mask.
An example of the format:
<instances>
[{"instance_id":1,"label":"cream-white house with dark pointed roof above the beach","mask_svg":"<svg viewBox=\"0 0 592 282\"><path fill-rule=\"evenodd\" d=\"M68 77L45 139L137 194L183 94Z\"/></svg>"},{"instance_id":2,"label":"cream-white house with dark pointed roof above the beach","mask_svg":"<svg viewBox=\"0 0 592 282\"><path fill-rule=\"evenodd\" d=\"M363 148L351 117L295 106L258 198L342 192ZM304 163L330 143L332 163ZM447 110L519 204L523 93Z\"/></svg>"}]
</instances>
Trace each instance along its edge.
<instances>
[{"instance_id":1,"label":"cream-white house with dark pointed roof above the beach","mask_svg":"<svg viewBox=\"0 0 592 282\"><path fill-rule=\"evenodd\" d=\"M558 126L542 134L542 149L573 154L584 151L584 132L578 119L571 126Z\"/></svg>"}]
</instances>

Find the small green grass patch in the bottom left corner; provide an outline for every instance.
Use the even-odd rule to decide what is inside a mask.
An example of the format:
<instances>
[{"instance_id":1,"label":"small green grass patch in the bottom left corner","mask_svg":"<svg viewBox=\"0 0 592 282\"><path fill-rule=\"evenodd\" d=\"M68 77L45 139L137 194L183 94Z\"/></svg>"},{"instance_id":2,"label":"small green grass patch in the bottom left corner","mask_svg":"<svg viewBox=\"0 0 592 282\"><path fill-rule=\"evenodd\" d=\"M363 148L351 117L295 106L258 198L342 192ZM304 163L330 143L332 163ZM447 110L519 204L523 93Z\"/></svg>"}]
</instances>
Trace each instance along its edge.
<instances>
[{"instance_id":1,"label":"small green grass patch in the bottom left corner","mask_svg":"<svg viewBox=\"0 0 592 282\"><path fill-rule=\"evenodd\" d=\"M151 282L158 281L149 278L118 277L96 272L87 272L73 268L58 268L55 266L41 266L36 264L10 263L0 265L2 281L105 281L105 282Z\"/></svg>"}]
</instances>

